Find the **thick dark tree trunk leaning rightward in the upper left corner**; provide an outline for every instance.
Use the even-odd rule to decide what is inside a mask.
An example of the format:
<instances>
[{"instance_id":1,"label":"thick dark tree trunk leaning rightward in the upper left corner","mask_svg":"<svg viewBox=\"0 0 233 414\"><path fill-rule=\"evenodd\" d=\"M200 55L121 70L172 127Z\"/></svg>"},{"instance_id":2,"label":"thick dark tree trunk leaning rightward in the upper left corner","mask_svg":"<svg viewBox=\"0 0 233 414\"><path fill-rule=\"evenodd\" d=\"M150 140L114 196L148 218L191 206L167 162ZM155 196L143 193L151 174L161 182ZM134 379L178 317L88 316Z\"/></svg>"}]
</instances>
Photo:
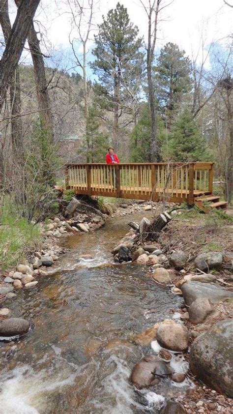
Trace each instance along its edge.
<instances>
[{"instance_id":1,"label":"thick dark tree trunk leaning rightward in the upper left corner","mask_svg":"<svg viewBox=\"0 0 233 414\"><path fill-rule=\"evenodd\" d=\"M31 20L34 17L39 2L40 0L21 1L18 8L12 30L0 60L0 112L6 96L6 89L11 82L20 59Z\"/></svg>"}]
</instances>

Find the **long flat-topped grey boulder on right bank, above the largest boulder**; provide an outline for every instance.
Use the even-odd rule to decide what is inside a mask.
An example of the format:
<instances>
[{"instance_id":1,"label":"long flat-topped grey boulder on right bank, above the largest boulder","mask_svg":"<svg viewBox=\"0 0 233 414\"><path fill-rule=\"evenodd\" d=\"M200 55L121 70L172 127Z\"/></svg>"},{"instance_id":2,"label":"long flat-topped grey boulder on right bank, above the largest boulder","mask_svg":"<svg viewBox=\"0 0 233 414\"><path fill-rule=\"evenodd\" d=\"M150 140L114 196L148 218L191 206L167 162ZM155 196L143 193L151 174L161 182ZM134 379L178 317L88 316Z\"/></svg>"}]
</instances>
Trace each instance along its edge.
<instances>
[{"instance_id":1,"label":"long flat-topped grey boulder on right bank, above the largest boulder","mask_svg":"<svg viewBox=\"0 0 233 414\"><path fill-rule=\"evenodd\" d=\"M227 291L213 283L189 282L181 286L184 302L190 306L194 300L207 297L213 302L219 302L227 297L233 297L233 292Z\"/></svg>"}]
</instances>

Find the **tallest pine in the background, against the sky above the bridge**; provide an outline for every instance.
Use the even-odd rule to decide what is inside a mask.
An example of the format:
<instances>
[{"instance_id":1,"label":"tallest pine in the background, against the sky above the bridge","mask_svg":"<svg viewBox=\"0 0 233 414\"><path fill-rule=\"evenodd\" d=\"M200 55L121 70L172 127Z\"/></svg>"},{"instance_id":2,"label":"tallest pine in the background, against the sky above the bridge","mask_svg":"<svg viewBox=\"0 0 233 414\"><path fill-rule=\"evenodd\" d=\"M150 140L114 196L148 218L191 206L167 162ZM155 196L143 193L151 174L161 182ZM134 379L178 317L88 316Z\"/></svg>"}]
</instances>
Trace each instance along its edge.
<instances>
[{"instance_id":1,"label":"tallest pine in the background, against the sky above the bridge","mask_svg":"<svg viewBox=\"0 0 233 414\"><path fill-rule=\"evenodd\" d=\"M132 86L132 68L142 65L143 61L140 51L142 39L138 38L137 26L129 20L127 9L119 2L106 18L103 16L103 23L98 28L92 52L95 60L91 66L100 81L96 90L103 99L101 105L114 113L113 143L117 150L119 118L129 107L128 102L125 102L125 99L129 99L126 86L129 82Z\"/></svg>"}]
</instances>

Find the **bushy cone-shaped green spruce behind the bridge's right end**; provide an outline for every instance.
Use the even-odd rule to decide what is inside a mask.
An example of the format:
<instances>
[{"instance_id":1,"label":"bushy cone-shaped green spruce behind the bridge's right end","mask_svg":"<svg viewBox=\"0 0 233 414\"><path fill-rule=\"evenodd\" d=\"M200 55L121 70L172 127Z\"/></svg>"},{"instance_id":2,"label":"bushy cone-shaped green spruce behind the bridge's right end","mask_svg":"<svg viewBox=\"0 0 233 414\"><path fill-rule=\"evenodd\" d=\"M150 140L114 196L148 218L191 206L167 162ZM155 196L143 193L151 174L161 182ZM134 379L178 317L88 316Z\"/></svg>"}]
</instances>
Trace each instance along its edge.
<instances>
[{"instance_id":1,"label":"bushy cone-shaped green spruce behind the bridge's right end","mask_svg":"<svg viewBox=\"0 0 233 414\"><path fill-rule=\"evenodd\" d=\"M175 161L204 161L208 159L204 136L199 132L192 114L188 110L183 111L173 124L169 135L168 157Z\"/></svg>"}]
</instances>

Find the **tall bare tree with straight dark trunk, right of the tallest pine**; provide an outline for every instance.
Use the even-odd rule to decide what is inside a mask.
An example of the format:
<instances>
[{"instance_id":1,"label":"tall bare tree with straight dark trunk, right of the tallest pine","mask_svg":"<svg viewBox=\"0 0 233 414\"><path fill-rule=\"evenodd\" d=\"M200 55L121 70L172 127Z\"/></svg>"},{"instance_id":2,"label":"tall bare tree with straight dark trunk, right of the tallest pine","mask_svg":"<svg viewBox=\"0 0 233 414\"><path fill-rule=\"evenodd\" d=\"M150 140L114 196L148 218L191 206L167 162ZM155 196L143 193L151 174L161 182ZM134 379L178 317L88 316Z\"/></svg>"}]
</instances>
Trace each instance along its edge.
<instances>
[{"instance_id":1,"label":"tall bare tree with straight dark trunk, right of the tallest pine","mask_svg":"<svg viewBox=\"0 0 233 414\"><path fill-rule=\"evenodd\" d=\"M152 79L152 67L154 61L154 50L157 40L158 17L161 11L169 6L171 2L165 3L163 0L140 0L148 21L147 43L146 43L146 73L148 83L149 108L151 119L150 133L150 161L158 161L158 133L156 125L156 103L155 103L155 85Z\"/></svg>"}]
</instances>

